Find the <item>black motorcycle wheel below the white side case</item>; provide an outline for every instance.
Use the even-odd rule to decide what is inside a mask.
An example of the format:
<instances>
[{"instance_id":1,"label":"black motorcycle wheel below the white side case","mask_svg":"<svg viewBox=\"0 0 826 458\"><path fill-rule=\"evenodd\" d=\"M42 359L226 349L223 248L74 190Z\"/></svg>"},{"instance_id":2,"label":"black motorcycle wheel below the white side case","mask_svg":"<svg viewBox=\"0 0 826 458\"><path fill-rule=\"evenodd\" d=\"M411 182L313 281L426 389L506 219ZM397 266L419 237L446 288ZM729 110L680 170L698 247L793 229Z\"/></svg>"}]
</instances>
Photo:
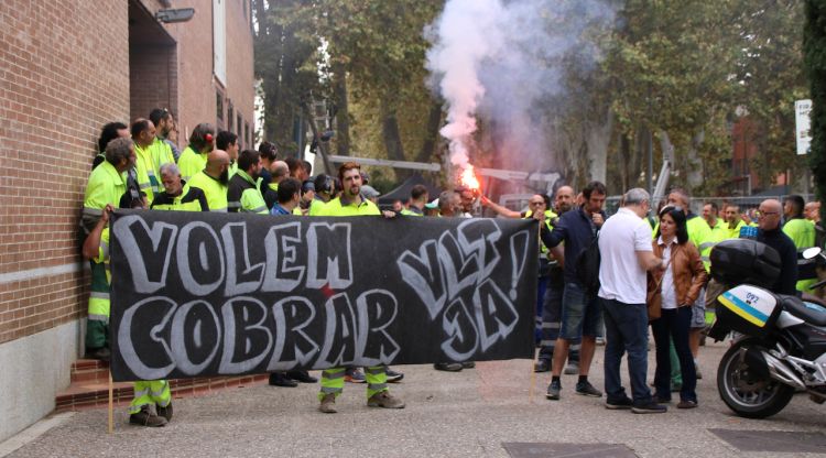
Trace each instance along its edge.
<instances>
[{"instance_id":1,"label":"black motorcycle wheel below the white side case","mask_svg":"<svg viewBox=\"0 0 826 458\"><path fill-rule=\"evenodd\" d=\"M717 368L717 390L720 399L737 415L765 418L782 411L794 395L794 389L768 377L758 377L749 368L741 349L759 347L758 339L742 339L729 348Z\"/></svg>"}]
</instances>

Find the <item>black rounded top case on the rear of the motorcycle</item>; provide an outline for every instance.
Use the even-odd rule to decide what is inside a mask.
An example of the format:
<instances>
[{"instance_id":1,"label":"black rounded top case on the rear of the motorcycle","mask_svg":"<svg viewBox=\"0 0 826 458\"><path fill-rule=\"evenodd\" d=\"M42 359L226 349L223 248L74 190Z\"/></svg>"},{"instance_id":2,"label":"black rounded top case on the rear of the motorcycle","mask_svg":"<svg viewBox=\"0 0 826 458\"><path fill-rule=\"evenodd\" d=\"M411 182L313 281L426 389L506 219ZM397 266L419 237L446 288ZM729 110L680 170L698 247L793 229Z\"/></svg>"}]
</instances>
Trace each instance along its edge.
<instances>
[{"instance_id":1,"label":"black rounded top case on the rear of the motorcycle","mask_svg":"<svg viewBox=\"0 0 826 458\"><path fill-rule=\"evenodd\" d=\"M780 254L750 239L724 240L711 249L711 276L724 284L773 285L780 277Z\"/></svg>"}]
</instances>

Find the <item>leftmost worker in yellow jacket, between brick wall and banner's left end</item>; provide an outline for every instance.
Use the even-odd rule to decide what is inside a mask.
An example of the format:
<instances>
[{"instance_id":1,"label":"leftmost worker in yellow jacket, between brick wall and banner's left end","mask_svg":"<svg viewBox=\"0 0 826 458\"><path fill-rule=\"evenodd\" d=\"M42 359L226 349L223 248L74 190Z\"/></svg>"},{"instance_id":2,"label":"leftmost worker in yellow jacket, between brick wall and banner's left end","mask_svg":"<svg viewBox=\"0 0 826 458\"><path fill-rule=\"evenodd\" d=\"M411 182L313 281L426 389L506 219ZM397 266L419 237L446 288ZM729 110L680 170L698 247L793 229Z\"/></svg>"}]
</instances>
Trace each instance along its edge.
<instances>
[{"instance_id":1,"label":"leftmost worker in yellow jacket, between brick wall and banner's left end","mask_svg":"<svg viewBox=\"0 0 826 458\"><path fill-rule=\"evenodd\" d=\"M127 171L134 167L135 160L132 139L118 138L106 145L106 161L91 171L86 185L81 214L86 233L97 226L107 205L120 205L127 192ZM104 264L94 261L86 325L86 355L104 361L108 361L110 356L109 285Z\"/></svg>"}]
</instances>

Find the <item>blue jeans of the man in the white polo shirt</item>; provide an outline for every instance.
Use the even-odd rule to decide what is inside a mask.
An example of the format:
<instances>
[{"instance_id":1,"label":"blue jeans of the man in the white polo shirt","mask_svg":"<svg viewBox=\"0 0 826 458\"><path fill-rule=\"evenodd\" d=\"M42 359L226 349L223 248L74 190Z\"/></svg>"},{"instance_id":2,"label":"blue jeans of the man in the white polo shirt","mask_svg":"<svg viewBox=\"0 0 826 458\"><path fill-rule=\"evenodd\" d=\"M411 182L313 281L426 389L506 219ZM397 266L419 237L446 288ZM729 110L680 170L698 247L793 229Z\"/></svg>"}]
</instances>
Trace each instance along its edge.
<instances>
[{"instance_id":1,"label":"blue jeans of the man in the white polo shirt","mask_svg":"<svg viewBox=\"0 0 826 458\"><path fill-rule=\"evenodd\" d=\"M628 351L628 374L631 378L631 397L634 405L651 402L651 391L645 384L649 369L649 314L645 304L624 304L601 299L605 309L605 391L608 402L626 399L620 364Z\"/></svg>"}]
</instances>

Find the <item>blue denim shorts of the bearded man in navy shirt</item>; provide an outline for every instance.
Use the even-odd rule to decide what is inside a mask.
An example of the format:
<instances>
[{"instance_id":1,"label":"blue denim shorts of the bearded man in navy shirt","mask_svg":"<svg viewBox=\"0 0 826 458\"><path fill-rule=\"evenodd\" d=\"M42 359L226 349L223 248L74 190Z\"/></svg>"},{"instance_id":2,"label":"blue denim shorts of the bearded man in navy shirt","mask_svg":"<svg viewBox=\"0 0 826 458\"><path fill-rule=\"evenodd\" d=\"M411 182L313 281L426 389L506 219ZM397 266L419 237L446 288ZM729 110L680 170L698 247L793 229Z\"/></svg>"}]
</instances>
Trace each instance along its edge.
<instances>
[{"instance_id":1,"label":"blue denim shorts of the bearded man in navy shirt","mask_svg":"<svg viewBox=\"0 0 826 458\"><path fill-rule=\"evenodd\" d=\"M597 337L602 328L602 302L577 283L565 283L562 293L562 330L559 337L574 340Z\"/></svg>"}]
</instances>

